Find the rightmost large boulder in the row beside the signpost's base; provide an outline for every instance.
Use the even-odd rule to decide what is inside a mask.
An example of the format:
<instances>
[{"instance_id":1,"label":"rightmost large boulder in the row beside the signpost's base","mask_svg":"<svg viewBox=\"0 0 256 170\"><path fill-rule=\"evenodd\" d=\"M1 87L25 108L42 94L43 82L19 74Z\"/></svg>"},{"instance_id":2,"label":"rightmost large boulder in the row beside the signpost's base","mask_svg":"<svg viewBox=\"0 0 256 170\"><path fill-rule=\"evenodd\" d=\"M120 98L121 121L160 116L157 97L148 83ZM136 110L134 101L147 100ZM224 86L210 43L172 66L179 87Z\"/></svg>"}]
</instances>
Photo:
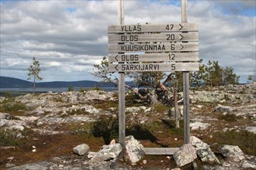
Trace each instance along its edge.
<instances>
[{"instance_id":1,"label":"rightmost large boulder in the row beside the signpost's base","mask_svg":"<svg viewBox=\"0 0 256 170\"><path fill-rule=\"evenodd\" d=\"M222 145L220 146L221 154L230 162L240 162L244 160L244 152L238 146Z\"/></svg>"}]
</instances>

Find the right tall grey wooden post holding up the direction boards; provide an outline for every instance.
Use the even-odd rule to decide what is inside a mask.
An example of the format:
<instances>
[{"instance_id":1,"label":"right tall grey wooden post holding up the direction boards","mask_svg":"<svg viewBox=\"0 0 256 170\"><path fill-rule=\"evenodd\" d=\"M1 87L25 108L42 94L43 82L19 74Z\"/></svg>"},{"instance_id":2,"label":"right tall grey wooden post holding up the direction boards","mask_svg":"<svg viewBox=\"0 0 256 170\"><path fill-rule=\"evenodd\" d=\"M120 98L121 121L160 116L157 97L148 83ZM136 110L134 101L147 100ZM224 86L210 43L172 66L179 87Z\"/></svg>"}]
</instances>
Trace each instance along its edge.
<instances>
[{"instance_id":1,"label":"right tall grey wooden post holding up the direction boards","mask_svg":"<svg viewBox=\"0 0 256 170\"><path fill-rule=\"evenodd\" d=\"M187 19L187 0L182 0L182 23L188 22ZM190 142L189 124L189 72L183 72L183 119L184 119L184 143Z\"/></svg>"}]
</instances>

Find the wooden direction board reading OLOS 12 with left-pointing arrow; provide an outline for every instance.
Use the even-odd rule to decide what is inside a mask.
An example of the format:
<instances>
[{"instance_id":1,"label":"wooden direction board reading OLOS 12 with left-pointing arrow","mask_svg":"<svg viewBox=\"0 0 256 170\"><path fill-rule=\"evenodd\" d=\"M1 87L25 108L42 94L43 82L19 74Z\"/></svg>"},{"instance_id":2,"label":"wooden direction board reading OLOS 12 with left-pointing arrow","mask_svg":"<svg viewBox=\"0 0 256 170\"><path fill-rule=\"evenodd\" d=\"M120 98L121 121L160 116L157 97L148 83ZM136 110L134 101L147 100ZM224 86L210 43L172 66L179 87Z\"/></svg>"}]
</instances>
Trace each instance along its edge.
<instances>
[{"instance_id":1,"label":"wooden direction board reading OLOS 12 with left-pointing arrow","mask_svg":"<svg viewBox=\"0 0 256 170\"><path fill-rule=\"evenodd\" d=\"M109 63L199 61L199 53L110 54Z\"/></svg>"}]
</instances>

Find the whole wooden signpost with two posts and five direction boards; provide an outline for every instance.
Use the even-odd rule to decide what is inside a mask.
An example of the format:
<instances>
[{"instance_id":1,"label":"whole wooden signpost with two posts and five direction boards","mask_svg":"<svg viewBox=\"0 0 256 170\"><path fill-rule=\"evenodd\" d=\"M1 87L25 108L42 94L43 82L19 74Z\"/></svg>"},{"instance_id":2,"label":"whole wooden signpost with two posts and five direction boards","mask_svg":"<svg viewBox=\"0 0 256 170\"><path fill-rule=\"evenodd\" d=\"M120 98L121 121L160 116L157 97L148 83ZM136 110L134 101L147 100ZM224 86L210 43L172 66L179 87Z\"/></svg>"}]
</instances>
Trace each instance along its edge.
<instances>
[{"instance_id":1,"label":"whole wooden signpost with two posts and five direction boards","mask_svg":"<svg viewBox=\"0 0 256 170\"><path fill-rule=\"evenodd\" d=\"M119 143L125 150L126 72L164 71L183 73L184 142L189 143L189 71L199 71L199 26L188 23L186 0L182 23L124 25L123 0L119 0L119 25L109 26L109 72L119 73ZM147 154L170 155L178 148L145 148Z\"/></svg>"}]
</instances>

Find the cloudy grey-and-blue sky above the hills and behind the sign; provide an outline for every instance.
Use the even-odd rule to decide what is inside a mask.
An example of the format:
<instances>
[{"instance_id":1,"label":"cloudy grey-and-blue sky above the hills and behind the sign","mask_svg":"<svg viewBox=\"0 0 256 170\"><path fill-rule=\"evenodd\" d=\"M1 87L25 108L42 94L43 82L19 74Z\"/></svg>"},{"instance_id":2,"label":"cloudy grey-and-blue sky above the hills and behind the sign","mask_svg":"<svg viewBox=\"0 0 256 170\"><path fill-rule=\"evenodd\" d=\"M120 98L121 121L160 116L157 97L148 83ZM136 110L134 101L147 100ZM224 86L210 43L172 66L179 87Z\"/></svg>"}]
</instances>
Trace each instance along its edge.
<instances>
[{"instance_id":1,"label":"cloudy grey-and-blue sky above the hills and behind the sign","mask_svg":"<svg viewBox=\"0 0 256 170\"><path fill-rule=\"evenodd\" d=\"M33 56L43 81L97 80L92 65L108 56L109 25L118 1L1 1L1 76L28 78ZM188 0L188 22L199 23L199 58L232 66L246 82L255 73L256 2ZM124 23L180 23L180 1L124 0Z\"/></svg>"}]
</instances>

